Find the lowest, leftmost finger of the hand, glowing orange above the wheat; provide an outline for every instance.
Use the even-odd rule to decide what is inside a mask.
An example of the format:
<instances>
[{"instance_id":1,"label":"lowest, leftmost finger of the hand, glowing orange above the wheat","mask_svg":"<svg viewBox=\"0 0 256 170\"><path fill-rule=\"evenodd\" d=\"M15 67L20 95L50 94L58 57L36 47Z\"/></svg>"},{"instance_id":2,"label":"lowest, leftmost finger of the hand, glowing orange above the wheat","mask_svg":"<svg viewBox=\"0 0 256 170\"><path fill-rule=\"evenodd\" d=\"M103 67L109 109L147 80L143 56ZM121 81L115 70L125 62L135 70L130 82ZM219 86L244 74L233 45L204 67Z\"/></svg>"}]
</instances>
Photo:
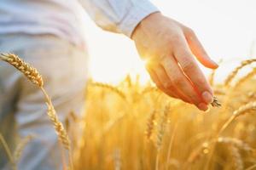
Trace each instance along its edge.
<instances>
[{"instance_id":1,"label":"lowest, leftmost finger of the hand, glowing orange above the wheat","mask_svg":"<svg viewBox=\"0 0 256 170\"><path fill-rule=\"evenodd\" d=\"M160 88L165 94L171 96L172 98L182 99L184 102L191 103L189 99L183 97L183 95L179 94L176 88L172 86L172 82L166 75L164 69L159 65L156 66L147 66L147 70L151 79L154 81L156 86Z\"/></svg>"}]
</instances>

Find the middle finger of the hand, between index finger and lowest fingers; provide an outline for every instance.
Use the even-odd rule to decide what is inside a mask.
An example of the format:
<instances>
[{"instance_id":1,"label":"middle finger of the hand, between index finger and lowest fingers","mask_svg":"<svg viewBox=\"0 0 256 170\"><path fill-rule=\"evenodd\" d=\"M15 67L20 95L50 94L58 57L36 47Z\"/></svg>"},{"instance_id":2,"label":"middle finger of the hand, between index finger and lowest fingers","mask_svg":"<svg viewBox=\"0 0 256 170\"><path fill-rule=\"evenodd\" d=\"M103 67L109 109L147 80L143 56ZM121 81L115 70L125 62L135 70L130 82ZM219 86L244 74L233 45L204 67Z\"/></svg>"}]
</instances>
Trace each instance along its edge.
<instances>
[{"instance_id":1,"label":"middle finger of the hand, between index finger and lowest fingers","mask_svg":"<svg viewBox=\"0 0 256 170\"><path fill-rule=\"evenodd\" d=\"M183 71L181 71L180 67L177 65L177 61L173 57L166 57L162 61L162 65L166 70L167 76L172 81L172 84L200 110L207 111L207 105L201 99L200 94L197 94L195 88L191 82L189 82L188 77L185 77Z\"/></svg>"}]
</instances>

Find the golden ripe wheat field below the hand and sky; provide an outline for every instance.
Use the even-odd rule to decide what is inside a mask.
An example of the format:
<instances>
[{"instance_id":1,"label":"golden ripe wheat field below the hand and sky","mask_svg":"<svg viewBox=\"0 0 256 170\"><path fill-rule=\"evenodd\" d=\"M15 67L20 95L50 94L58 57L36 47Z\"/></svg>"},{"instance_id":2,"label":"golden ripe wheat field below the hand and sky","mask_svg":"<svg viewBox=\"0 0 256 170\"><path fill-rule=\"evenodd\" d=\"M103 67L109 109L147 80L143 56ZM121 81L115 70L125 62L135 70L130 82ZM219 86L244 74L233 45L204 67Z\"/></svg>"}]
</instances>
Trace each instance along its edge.
<instances>
[{"instance_id":1,"label":"golden ripe wheat field below the hand and sky","mask_svg":"<svg viewBox=\"0 0 256 170\"><path fill-rule=\"evenodd\" d=\"M83 133L72 151L49 101L48 116L63 149L70 151L69 169L256 169L254 62L242 61L224 82L215 82L212 72L209 82L218 101L207 112L169 98L151 82L140 84L139 77L127 76L117 86L90 80L86 114L77 120ZM247 74L237 77L246 67Z\"/></svg>"}]
</instances>

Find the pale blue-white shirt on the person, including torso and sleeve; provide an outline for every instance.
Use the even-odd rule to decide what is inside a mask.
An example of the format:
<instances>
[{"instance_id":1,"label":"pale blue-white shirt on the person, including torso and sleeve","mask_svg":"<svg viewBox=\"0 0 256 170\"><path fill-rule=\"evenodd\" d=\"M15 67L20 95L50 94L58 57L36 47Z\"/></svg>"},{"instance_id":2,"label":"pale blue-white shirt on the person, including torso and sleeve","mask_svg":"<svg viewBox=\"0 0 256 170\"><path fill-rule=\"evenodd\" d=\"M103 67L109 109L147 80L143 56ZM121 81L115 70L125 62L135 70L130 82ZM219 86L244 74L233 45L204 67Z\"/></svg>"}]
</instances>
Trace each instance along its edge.
<instances>
[{"instance_id":1,"label":"pale blue-white shirt on the person, including torso and sleeve","mask_svg":"<svg viewBox=\"0 0 256 170\"><path fill-rule=\"evenodd\" d=\"M143 18L158 11L148 0L1 0L0 36L47 33L84 44L82 7L102 29L128 37Z\"/></svg>"}]
</instances>

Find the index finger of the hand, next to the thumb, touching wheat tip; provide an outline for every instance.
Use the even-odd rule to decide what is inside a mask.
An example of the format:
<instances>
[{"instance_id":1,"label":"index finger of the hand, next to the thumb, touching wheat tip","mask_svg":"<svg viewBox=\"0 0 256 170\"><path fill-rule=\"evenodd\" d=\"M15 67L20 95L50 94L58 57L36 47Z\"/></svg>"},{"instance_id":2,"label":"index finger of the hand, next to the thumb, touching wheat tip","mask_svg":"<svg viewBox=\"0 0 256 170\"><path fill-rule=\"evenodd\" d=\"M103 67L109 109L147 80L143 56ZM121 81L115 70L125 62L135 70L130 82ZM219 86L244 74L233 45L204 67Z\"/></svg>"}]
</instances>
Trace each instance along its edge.
<instances>
[{"instance_id":1,"label":"index finger of the hand, next to the thumb, touching wheat tip","mask_svg":"<svg viewBox=\"0 0 256 170\"><path fill-rule=\"evenodd\" d=\"M174 56L177 59L184 74L189 77L189 81L195 87L195 90L201 95L207 104L213 101L213 92L206 77L203 75L199 66L195 62L195 58L189 49L185 37L180 37L174 47Z\"/></svg>"}]
</instances>

